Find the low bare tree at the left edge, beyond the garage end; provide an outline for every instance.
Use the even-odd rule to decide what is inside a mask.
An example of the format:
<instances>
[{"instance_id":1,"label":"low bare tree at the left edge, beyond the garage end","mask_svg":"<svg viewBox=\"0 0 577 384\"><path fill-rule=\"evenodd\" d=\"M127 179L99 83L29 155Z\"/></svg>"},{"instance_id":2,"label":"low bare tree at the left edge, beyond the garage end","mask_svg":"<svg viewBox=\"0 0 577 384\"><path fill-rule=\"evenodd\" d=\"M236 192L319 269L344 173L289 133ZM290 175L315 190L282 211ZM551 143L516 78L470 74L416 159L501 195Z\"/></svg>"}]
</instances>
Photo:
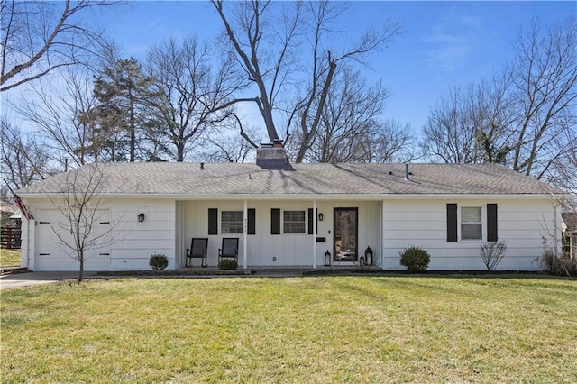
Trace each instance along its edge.
<instances>
[{"instance_id":1,"label":"low bare tree at the left edge, beyond the garage end","mask_svg":"<svg viewBox=\"0 0 577 384\"><path fill-rule=\"evenodd\" d=\"M50 176L50 154L37 136L24 135L4 117L0 120L2 174L13 189Z\"/></svg>"}]
</instances>

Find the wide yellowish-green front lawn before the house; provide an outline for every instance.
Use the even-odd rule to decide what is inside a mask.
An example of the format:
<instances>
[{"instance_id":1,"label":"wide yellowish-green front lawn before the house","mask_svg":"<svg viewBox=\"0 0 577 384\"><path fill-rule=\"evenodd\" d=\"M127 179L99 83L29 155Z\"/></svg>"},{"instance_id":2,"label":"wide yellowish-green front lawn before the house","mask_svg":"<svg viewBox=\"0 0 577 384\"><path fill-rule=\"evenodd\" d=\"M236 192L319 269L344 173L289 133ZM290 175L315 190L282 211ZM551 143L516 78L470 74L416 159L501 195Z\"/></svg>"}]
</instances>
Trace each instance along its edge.
<instances>
[{"instance_id":1,"label":"wide yellowish-green front lawn before the house","mask_svg":"<svg viewBox=\"0 0 577 384\"><path fill-rule=\"evenodd\" d=\"M577 280L114 279L2 292L3 382L577 382Z\"/></svg>"}]
</instances>

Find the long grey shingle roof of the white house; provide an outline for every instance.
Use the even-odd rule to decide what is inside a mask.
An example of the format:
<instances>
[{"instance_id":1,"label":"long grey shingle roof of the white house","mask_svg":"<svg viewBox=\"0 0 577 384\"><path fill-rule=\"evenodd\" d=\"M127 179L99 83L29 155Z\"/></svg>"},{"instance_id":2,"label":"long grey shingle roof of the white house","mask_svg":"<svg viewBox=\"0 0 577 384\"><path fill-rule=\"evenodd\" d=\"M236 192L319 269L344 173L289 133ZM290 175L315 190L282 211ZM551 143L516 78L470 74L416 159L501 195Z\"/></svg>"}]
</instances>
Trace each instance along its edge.
<instances>
[{"instance_id":1,"label":"long grey shingle roof of the white house","mask_svg":"<svg viewBox=\"0 0 577 384\"><path fill-rule=\"evenodd\" d=\"M91 167L71 172L83 179ZM198 163L166 162L101 167L101 192L111 195L543 195L552 188L496 164L410 164L410 180L405 180L404 164L294 164L294 170L235 163L208 163L204 169ZM66 178L62 173L19 193L60 193Z\"/></svg>"}]
</instances>

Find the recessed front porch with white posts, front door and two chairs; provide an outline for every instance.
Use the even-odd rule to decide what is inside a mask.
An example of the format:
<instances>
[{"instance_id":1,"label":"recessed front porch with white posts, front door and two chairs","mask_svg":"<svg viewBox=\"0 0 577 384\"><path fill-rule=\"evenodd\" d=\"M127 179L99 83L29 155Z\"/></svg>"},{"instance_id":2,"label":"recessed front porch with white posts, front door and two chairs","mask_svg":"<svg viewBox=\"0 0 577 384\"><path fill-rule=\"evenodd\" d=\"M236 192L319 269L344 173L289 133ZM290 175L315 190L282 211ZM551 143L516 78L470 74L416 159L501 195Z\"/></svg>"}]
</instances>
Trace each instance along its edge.
<instances>
[{"instance_id":1,"label":"recessed front porch with white posts, front door and two chairs","mask_svg":"<svg viewBox=\"0 0 577 384\"><path fill-rule=\"evenodd\" d=\"M176 201L174 268L185 268L192 238L207 238L207 264L215 269L223 238L230 237L239 239L244 270L380 265L381 228L382 202L374 200ZM371 262L364 258L369 247ZM196 270L200 260L193 265Z\"/></svg>"}]
</instances>

